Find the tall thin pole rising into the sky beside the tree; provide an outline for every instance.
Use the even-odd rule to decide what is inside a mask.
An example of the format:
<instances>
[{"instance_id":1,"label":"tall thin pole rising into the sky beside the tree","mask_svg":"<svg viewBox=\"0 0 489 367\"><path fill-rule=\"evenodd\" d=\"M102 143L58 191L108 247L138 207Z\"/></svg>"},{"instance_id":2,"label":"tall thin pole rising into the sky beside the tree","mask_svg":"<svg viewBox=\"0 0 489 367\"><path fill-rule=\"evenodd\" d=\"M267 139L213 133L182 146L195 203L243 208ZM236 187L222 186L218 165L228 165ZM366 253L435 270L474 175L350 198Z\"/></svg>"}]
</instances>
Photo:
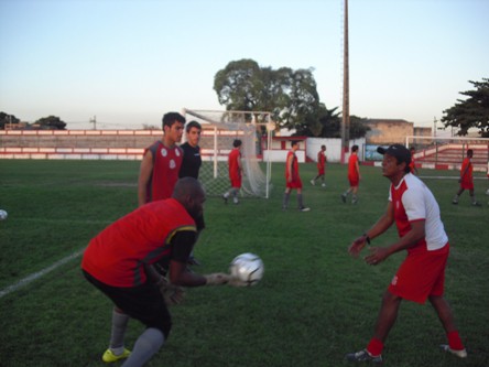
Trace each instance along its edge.
<instances>
[{"instance_id":1,"label":"tall thin pole rising into the sky beside the tree","mask_svg":"<svg viewBox=\"0 0 489 367\"><path fill-rule=\"evenodd\" d=\"M350 134L350 88L348 61L348 0L345 0L345 24L343 40L343 120L341 120L341 163L346 163Z\"/></svg>"}]
</instances>

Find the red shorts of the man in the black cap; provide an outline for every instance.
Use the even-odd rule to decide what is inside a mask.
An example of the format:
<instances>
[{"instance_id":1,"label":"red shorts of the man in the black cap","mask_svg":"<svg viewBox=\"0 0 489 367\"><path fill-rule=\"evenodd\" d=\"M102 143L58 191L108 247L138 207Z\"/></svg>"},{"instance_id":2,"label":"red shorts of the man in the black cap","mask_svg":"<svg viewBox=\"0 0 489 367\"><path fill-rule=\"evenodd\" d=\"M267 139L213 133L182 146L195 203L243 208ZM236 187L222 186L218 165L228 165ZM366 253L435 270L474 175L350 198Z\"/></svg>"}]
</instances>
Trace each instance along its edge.
<instances>
[{"instance_id":1,"label":"red shorts of the man in the black cap","mask_svg":"<svg viewBox=\"0 0 489 367\"><path fill-rule=\"evenodd\" d=\"M449 245L435 251L408 253L389 285L400 298L424 303L430 295L443 295Z\"/></svg>"}]
</instances>

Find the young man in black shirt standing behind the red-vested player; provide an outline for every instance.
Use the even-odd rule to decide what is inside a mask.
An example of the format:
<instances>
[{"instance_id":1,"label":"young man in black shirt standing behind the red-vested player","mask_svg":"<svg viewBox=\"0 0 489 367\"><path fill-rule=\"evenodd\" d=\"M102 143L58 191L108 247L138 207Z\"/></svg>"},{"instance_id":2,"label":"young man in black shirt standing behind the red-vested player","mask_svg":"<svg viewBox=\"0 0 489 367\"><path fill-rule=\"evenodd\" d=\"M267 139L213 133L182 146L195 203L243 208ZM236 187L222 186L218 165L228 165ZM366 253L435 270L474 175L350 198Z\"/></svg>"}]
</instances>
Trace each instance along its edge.
<instances>
[{"instance_id":1,"label":"young man in black shirt standing behind the red-vested player","mask_svg":"<svg viewBox=\"0 0 489 367\"><path fill-rule=\"evenodd\" d=\"M178 173L178 177L181 179L194 177L195 180L198 180L198 171L202 165L200 147L198 145L200 142L200 133L202 126L197 121L189 121L185 126L185 138L187 141L180 145L183 151L183 160ZM198 217L196 224L197 233L200 234L206 227L204 216ZM199 266L200 261L194 257L194 253L191 253L188 265Z\"/></svg>"}]
</instances>

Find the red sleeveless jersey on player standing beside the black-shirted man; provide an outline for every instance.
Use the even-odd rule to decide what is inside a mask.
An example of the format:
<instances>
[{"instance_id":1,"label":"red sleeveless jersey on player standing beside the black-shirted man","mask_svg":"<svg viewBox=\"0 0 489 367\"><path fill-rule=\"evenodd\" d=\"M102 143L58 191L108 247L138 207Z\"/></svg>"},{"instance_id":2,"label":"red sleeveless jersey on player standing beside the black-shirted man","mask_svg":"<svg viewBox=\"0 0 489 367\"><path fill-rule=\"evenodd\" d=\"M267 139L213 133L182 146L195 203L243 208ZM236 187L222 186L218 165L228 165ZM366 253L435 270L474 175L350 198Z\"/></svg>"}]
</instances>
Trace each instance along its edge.
<instances>
[{"instance_id":1,"label":"red sleeveless jersey on player standing beside the black-shirted man","mask_svg":"<svg viewBox=\"0 0 489 367\"><path fill-rule=\"evenodd\" d=\"M144 154L148 150L153 153L153 173L148 183L146 203L172 196L183 161L182 148L177 145L167 148L156 141L144 150Z\"/></svg>"}]
</instances>

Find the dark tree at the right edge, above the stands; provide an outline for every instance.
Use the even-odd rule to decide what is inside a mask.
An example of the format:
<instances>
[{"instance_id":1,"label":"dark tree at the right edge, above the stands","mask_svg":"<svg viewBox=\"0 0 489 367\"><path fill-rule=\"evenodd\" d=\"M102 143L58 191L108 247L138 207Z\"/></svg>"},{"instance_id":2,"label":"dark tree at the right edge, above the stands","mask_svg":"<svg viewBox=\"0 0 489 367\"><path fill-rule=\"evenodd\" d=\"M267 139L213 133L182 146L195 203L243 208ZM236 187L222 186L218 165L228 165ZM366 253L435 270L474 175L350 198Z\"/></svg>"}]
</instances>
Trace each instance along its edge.
<instances>
[{"instance_id":1,"label":"dark tree at the right edge, above the stands","mask_svg":"<svg viewBox=\"0 0 489 367\"><path fill-rule=\"evenodd\" d=\"M442 117L442 122L445 129L458 128L459 136L466 136L469 129L476 128L482 138L489 138L489 78L482 78L482 82L469 80L469 83L476 89L460 91L468 98L457 99L455 106L444 110L446 115Z\"/></svg>"}]
</instances>

